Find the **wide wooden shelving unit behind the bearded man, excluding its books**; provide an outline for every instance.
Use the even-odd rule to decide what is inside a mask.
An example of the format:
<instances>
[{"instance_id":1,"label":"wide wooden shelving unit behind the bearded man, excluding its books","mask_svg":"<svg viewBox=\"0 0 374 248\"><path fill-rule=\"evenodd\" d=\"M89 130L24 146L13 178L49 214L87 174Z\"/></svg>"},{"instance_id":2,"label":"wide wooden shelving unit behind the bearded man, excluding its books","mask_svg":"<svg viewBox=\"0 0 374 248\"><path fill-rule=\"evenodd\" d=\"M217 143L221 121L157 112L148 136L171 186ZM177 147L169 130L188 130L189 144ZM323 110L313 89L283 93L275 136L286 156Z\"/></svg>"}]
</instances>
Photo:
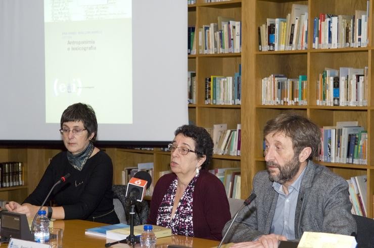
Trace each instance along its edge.
<instances>
[{"instance_id":1,"label":"wide wooden shelving unit behind the bearded man, excluding its books","mask_svg":"<svg viewBox=\"0 0 374 248\"><path fill-rule=\"evenodd\" d=\"M262 128L266 121L275 117L277 114L287 110L293 110L299 114L310 118L320 127L334 126L337 121L358 121L360 126L363 126L368 132L367 145L367 165L344 164L344 163L327 163L317 162L328 168L333 172L341 175L345 179L352 176L366 175L367 176L367 215L373 217L373 199L374 194L374 157L371 152L374 152L372 146L372 131L374 131L374 107L370 100L374 95L374 87L372 83L373 73L373 48L371 32L372 27L372 3L369 1L369 18L368 18L368 37L369 44L367 47L358 48L336 48L336 49L313 49L313 19L318 17L320 13L331 13L336 15L354 15L355 10L366 10L366 0L309 0L309 1L288 1L288 0L273 0L273 1L245 1L248 5L243 4L242 8L249 8L254 10L252 15L246 16L246 23L248 26L244 34L247 34L243 39L245 44L247 42L252 45L244 54L242 58L248 61L247 74L243 75L243 81L250 84L252 94L246 104L242 106L242 111L245 109L250 113L250 120L246 122L248 125L249 142L245 143L243 150L248 153L242 156L242 171L246 167L249 178L248 184L252 183L252 178L256 172L265 169L265 161L263 157L263 135ZM244 3L244 2L243 2ZM291 13L292 4L308 5L308 47L301 51L277 51L277 52L260 52L258 51L258 34L257 27L266 23L266 18L285 18L288 13ZM243 20L244 21L244 20ZM248 33L252 34L249 36ZM243 62L244 64L244 62ZM318 106L316 105L316 81L318 74L323 71L325 67L339 69L340 67L364 68L368 66L368 106L367 107L339 107L339 106ZM250 71L250 73L249 73ZM307 106L269 106L261 105L261 79L270 74L285 74L288 78L298 78L299 75L307 75L308 80L308 94ZM244 95L245 93L243 93ZM244 123L244 121L242 120ZM243 140L244 138L242 138ZM249 148L251 147L251 148ZM245 163L244 163L245 162ZM242 177L243 182L243 177ZM243 195L242 195L243 196Z\"/></svg>"}]
</instances>

